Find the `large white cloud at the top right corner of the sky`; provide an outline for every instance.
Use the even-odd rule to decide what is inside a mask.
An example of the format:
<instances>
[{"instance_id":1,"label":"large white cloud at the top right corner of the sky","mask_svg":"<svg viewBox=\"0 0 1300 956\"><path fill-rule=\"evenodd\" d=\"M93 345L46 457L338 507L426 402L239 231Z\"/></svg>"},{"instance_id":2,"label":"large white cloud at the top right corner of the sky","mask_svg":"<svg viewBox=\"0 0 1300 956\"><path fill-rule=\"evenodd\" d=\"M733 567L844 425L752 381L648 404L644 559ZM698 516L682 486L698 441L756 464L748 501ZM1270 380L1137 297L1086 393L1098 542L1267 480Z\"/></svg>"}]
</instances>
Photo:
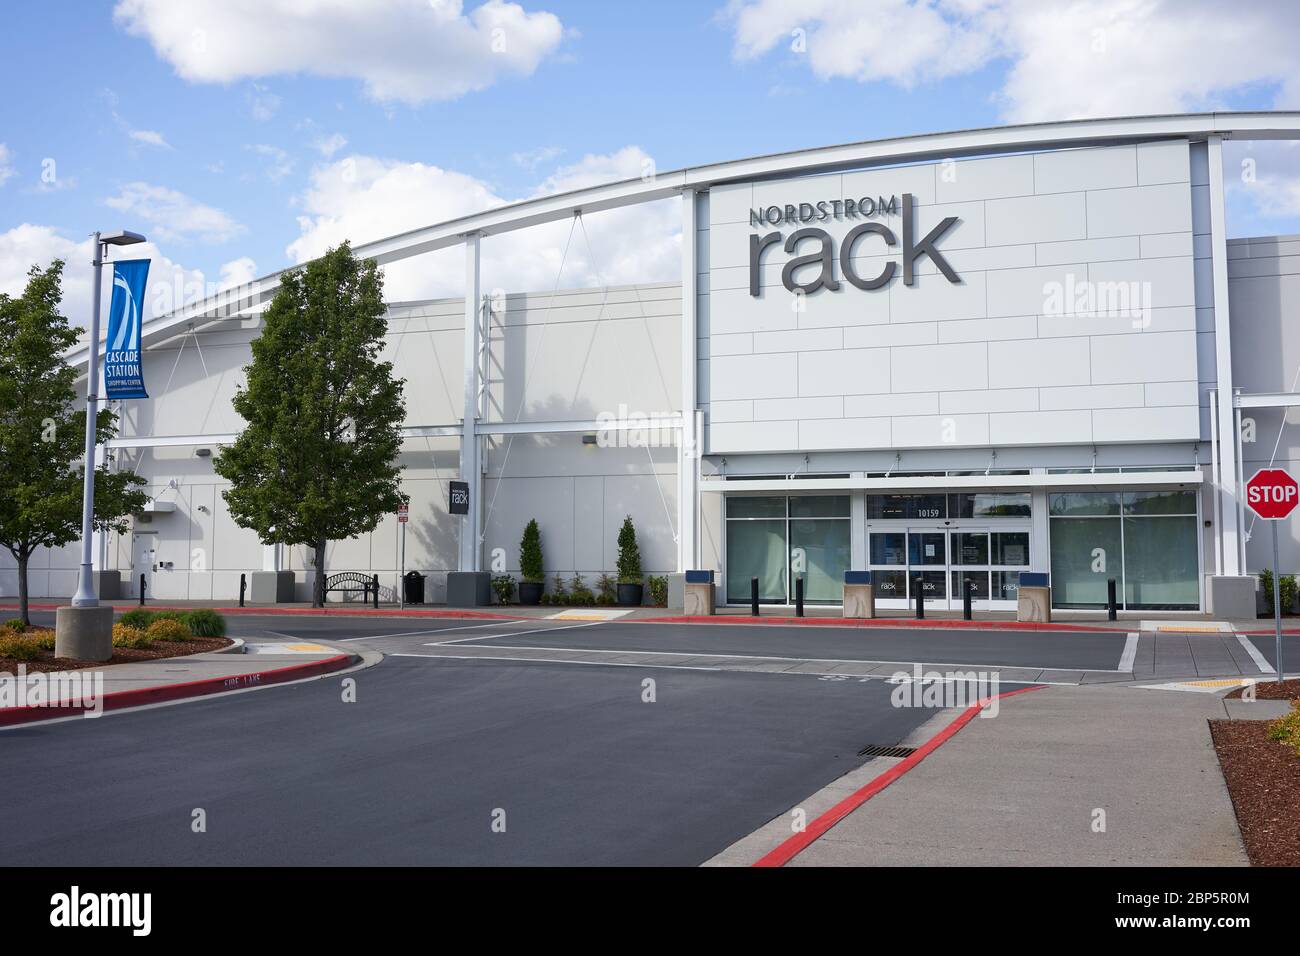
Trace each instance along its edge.
<instances>
[{"instance_id":1,"label":"large white cloud at the top right corner of the sky","mask_svg":"<svg viewBox=\"0 0 1300 956\"><path fill-rule=\"evenodd\" d=\"M780 48L822 79L913 88L1005 61L1014 122L1210 109L1261 87L1300 101L1291 0L732 0L723 18L736 59Z\"/></svg>"}]
</instances>

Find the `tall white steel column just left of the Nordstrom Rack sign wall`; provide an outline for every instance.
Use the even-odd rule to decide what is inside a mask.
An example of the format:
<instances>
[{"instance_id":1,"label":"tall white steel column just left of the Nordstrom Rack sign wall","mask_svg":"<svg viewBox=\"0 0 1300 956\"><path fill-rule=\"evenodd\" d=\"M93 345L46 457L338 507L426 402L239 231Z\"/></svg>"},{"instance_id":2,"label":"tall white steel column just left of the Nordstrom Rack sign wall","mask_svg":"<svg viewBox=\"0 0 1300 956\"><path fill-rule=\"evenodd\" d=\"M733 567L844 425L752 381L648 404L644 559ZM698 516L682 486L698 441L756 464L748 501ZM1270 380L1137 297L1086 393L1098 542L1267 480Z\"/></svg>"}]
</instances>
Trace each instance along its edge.
<instances>
[{"instance_id":1,"label":"tall white steel column just left of the Nordstrom Rack sign wall","mask_svg":"<svg viewBox=\"0 0 1300 956\"><path fill-rule=\"evenodd\" d=\"M681 193L681 432L677 437L677 570L698 567L699 440L696 407L696 315L698 308L696 198Z\"/></svg>"}]
</instances>

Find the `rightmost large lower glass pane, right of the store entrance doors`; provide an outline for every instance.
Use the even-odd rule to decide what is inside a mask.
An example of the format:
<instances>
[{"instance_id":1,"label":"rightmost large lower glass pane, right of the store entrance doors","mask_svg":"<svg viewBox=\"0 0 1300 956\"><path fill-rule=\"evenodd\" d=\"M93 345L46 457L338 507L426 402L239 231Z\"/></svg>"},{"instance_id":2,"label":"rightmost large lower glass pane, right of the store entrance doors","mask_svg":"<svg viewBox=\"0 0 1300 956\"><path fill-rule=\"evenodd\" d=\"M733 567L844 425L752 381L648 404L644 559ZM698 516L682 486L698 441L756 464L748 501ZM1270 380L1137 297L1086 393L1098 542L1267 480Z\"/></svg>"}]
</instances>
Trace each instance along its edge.
<instances>
[{"instance_id":1,"label":"rightmost large lower glass pane, right of the store entrance doors","mask_svg":"<svg viewBox=\"0 0 1300 956\"><path fill-rule=\"evenodd\" d=\"M1126 607L1196 609L1195 516L1124 518Z\"/></svg>"}]
</instances>

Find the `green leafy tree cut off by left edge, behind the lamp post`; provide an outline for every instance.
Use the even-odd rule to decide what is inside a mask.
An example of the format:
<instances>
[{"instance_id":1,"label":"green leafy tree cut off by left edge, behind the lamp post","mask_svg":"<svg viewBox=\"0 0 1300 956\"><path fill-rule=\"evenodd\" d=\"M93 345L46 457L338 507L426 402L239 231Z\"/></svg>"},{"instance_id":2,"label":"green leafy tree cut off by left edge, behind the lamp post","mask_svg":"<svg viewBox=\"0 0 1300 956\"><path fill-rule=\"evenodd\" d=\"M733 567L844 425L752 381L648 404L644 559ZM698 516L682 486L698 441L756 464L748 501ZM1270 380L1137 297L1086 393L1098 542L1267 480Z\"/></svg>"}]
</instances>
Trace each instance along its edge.
<instances>
[{"instance_id":1,"label":"green leafy tree cut off by left edge, behind the lamp post","mask_svg":"<svg viewBox=\"0 0 1300 956\"><path fill-rule=\"evenodd\" d=\"M31 267L17 298L0 295L0 546L18 563L18 614L30 624L27 563L38 548L81 540L86 410L77 408L77 369L64 352L78 332L58 312L64 263ZM95 416L100 444L117 415ZM95 470L95 527L124 533L148 496L131 472Z\"/></svg>"}]
</instances>

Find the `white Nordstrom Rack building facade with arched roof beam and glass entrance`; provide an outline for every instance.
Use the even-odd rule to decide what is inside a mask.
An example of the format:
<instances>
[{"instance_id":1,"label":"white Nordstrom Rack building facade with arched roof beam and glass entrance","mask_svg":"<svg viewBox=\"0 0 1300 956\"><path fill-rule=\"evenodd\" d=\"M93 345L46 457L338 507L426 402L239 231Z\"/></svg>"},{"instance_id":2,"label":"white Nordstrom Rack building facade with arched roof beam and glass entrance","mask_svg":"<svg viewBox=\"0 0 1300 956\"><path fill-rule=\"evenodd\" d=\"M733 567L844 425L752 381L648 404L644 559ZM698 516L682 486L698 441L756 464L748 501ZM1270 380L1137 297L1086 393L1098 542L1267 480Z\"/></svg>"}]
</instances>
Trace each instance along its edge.
<instances>
[{"instance_id":1,"label":"white Nordstrom Rack building facade with arched roof beam and glass entrance","mask_svg":"<svg viewBox=\"0 0 1300 956\"><path fill-rule=\"evenodd\" d=\"M391 303L407 380L406 570L612 572L630 515L647 572L716 572L719 601L1253 613L1268 536L1244 477L1296 458L1300 239L1227 239L1223 140L1300 138L1300 114L1078 121L738 160L530 200L358 247L382 263L462 247L465 297ZM1228 173L1235 176L1235 172ZM484 294L481 243L575 215L680 203L680 282ZM233 600L294 572L225 510L212 455L278 280L146 326L150 401L104 453L151 510L96 548L126 593ZM1294 326L1294 323L1291 324ZM84 352L72 355L84 365ZM471 485L448 514L447 483ZM396 588L395 516L330 544L328 571ZM1283 570L1300 535L1283 527ZM75 589L77 549L32 561ZM0 567L0 593L16 591Z\"/></svg>"}]
</instances>

